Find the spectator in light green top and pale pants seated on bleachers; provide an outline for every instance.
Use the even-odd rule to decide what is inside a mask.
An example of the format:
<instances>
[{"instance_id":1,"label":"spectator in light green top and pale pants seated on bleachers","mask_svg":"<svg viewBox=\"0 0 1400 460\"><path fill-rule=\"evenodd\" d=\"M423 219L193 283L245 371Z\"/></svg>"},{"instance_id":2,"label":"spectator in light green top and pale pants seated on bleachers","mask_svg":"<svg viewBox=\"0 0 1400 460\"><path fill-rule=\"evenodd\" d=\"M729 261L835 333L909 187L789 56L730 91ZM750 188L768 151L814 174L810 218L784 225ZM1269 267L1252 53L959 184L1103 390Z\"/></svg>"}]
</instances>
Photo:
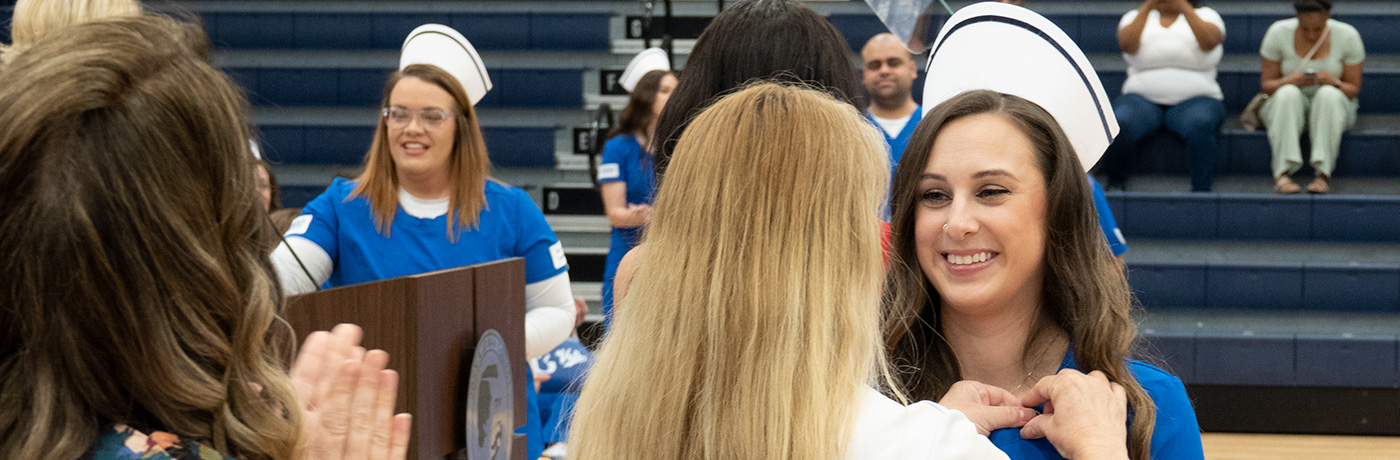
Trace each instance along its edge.
<instances>
[{"instance_id":1,"label":"spectator in light green top and pale pants seated on bleachers","mask_svg":"<svg viewBox=\"0 0 1400 460\"><path fill-rule=\"evenodd\" d=\"M1341 134L1357 124L1366 49L1357 28L1331 18L1331 1L1294 0L1294 10L1298 15L1270 25L1259 46L1259 84L1270 94L1260 115L1274 157L1274 192L1302 192L1292 175L1303 165L1306 131L1316 175L1308 192L1327 193Z\"/></svg>"}]
</instances>

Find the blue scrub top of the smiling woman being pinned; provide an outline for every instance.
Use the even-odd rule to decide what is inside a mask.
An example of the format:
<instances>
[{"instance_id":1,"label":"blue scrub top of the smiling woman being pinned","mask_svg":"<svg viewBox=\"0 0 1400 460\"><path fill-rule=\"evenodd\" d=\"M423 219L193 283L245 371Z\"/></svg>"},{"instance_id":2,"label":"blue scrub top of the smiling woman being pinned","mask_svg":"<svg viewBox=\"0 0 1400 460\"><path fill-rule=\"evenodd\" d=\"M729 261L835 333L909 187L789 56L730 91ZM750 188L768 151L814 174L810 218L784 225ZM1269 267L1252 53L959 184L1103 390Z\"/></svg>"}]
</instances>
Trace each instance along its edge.
<instances>
[{"instance_id":1,"label":"blue scrub top of the smiling woman being pinned","mask_svg":"<svg viewBox=\"0 0 1400 460\"><path fill-rule=\"evenodd\" d=\"M1060 369L1075 369L1074 351L1064 354ZM1152 426L1152 459L1154 460L1203 460L1201 428L1196 422L1196 410L1186 396L1186 386L1182 379L1162 371L1158 366L1128 359L1128 372L1138 380L1142 390L1152 397L1156 405L1156 425ZM1131 411L1128 412L1131 424ZM1022 439L1021 428L1002 428L993 431L990 436L997 449L1005 452L1012 460L1063 460L1064 457L1044 438Z\"/></svg>"}]
</instances>

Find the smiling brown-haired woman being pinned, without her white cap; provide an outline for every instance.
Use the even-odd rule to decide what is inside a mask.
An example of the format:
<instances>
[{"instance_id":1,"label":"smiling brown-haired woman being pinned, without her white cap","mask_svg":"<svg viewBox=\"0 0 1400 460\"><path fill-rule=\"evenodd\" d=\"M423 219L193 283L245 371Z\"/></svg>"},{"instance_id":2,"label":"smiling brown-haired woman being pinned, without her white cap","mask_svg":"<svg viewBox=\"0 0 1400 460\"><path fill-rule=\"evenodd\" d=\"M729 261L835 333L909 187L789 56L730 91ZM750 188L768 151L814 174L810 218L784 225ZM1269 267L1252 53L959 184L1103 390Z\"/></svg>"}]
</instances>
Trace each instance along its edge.
<instances>
[{"instance_id":1,"label":"smiling brown-haired woman being pinned, without her white cap","mask_svg":"<svg viewBox=\"0 0 1400 460\"><path fill-rule=\"evenodd\" d=\"M1098 371L1127 393L1133 459L1201 457L1182 382L1128 359L1133 295L1050 113L993 91L939 103L892 197L885 338L910 397L938 398L963 379L1022 396L1064 369ZM1064 452L1016 431L990 438L1012 459Z\"/></svg>"}]
</instances>

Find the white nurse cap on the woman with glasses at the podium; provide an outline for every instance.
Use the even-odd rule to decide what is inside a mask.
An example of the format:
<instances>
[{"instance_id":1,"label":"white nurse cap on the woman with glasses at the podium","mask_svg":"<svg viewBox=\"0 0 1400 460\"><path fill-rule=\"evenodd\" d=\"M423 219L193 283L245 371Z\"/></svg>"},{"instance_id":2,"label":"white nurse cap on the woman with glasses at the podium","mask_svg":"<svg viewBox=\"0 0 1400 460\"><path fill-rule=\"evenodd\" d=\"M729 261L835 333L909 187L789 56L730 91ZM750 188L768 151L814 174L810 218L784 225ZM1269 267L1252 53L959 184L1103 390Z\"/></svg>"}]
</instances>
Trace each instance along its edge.
<instances>
[{"instance_id":1,"label":"white nurse cap on the woman with glasses at the podium","mask_svg":"<svg viewBox=\"0 0 1400 460\"><path fill-rule=\"evenodd\" d=\"M441 24L424 24L409 32L399 55L399 70L413 64L430 64L445 70L462 84L466 98L476 105L491 91L491 77L486 74L482 56L462 34Z\"/></svg>"}]
</instances>

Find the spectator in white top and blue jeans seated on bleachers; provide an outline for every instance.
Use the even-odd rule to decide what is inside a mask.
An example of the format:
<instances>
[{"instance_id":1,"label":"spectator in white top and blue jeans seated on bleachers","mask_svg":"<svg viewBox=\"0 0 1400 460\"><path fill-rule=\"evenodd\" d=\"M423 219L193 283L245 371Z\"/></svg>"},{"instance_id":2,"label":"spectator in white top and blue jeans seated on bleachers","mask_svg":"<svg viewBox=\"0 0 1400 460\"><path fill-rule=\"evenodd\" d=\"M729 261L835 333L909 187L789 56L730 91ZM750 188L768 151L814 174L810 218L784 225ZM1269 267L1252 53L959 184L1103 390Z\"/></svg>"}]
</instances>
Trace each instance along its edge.
<instances>
[{"instance_id":1,"label":"spectator in white top and blue jeans seated on bleachers","mask_svg":"<svg viewBox=\"0 0 1400 460\"><path fill-rule=\"evenodd\" d=\"M1103 155L1100 171L1110 187L1121 187L1135 147L1165 127L1186 141L1191 192L1210 192L1215 176L1215 144L1225 119L1215 66L1224 53L1225 21L1197 0L1144 0L1119 21L1119 48L1128 63L1123 95L1113 101L1117 140Z\"/></svg>"}]
</instances>

